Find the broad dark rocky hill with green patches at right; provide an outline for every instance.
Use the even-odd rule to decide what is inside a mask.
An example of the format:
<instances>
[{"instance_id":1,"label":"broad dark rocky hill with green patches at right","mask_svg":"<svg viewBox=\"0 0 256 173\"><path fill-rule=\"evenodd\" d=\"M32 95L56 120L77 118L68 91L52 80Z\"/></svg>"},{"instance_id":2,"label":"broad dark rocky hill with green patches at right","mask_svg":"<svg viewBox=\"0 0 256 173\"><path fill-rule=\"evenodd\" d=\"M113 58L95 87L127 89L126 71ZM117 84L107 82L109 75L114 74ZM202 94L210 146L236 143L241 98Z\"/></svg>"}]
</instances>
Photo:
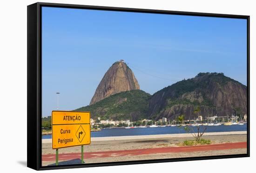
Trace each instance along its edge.
<instances>
[{"instance_id":1,"label":"broad dark rocky hill with green patches at right","mask_svg":"<svg viewBox=\"0 0 256 173\"><path fill-rule=\"evenodd\" d=\"M223 73L199 73L191 79L174 83L157 91L149 100L149 117L175 119L185 115L194 118L194 108L199 115L227 116L247 112L247 87Z\"/></svg>"}]
</instances>

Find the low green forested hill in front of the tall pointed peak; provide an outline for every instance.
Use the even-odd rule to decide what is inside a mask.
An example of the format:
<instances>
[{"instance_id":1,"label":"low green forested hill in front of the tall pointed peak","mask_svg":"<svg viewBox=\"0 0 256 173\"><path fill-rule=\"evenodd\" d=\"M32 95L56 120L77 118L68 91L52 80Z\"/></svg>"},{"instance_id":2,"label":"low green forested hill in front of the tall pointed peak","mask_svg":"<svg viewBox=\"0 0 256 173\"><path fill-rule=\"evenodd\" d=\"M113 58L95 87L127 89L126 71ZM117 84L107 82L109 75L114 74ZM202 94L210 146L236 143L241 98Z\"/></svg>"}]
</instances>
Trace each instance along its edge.
<instances>
[{"instance_id":1,"label":"low green forested hill in front of the tall pointed peak","mask_svg":"<svg viewBox=\"0 0 256 173\"><path fill-rule=\"evenodd\" d=\"M130 120L136 121L148 115L148 100L150 94L142 90L130 90L117 93L113 96L93 104L81 107L77 111L90 111L91 118Z\"/></svg>"}]
</instances>

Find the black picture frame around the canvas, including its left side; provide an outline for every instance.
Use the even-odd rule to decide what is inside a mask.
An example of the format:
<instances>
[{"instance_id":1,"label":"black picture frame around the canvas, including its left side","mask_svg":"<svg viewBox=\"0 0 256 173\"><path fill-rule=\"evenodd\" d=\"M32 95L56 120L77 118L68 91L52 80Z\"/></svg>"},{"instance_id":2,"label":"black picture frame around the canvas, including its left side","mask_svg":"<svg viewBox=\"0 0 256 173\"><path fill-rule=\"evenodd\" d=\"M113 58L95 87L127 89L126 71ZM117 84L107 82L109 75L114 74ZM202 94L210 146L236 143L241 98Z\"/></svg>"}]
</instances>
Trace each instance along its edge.
<instances>
[{"instance_id":1,"label":"black picture frame around the canvas, including its left side","mask_svg":"<svg viewBox=\"0 0 256 173\"><path fill-rule=\"evenodd\" d=\"M236 18L247 20L247 154L222 155L222 156L203 156L175 159L159 159L159 160L140 160L140 161L121 161L108 163L93 163L93 164L76 164L63 166L41 166L41 98L42 98L42 73L41 73L41 8L43 6L62 7L62 8L78 8L78 9L93 9L107 10L120 12L139 12L139 13L160 13L160 14L178 14L189 16L207 16L219 18ZM158 162L173 162L173 161L188 161L188 160L210 160L210 159L225 159L249 157L250 141L250 114L249 114L249 57L250 57L250 41L249 41L249 16L246 15L231 15L231 14L214 14L214 13L195 13L195 12L179 12L153 9L136 9L122 7L107 7L107 6L86 6L74 4L57 4L57 3L42 3L38 2L27 6L27 167L35 170L48 169L63 169L63 168L79 168L79 167L101 167L115 165L132 165Z\"/></svg>"}]
</instances>

